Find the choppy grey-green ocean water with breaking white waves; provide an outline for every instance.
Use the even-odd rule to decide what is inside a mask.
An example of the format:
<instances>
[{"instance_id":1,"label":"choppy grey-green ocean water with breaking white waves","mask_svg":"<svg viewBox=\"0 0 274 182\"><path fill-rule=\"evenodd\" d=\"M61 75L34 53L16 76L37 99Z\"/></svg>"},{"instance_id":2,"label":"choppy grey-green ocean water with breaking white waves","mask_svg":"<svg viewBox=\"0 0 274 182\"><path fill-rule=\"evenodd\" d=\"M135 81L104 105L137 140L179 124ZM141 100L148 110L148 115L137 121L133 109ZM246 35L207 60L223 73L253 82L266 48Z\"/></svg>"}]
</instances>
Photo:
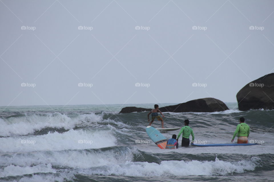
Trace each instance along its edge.
<instances>
[{"instance_id":1,"label":"choppy grey-green ocean water with breaking white waves","mask_svg":"<svg viewBox=\"0 0 274 182\"><path fill-rule=\"evenodd\" d=\"M261 145L186 148L179 140L179 149L161 150L146 134L147 112L119 113L154 104L0 107L0 182L274 181L274 111L226 104L230 110L164 113L164 127L189 119L196 142L230 143L245 117L249 142Z\"/></svg>"}]
</instances>

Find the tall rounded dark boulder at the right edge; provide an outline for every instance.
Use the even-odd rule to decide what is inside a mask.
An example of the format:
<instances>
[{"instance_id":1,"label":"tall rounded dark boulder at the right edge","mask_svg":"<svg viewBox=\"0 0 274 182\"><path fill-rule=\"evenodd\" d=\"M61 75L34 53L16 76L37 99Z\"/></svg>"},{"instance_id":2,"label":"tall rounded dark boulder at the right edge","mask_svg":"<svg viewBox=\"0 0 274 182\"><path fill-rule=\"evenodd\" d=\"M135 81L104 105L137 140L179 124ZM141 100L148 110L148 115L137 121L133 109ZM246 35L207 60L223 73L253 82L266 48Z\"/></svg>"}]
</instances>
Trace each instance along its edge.
<instances>
[{"instance_id":1,"label":"tall rounded dark boulder at the right edge","mask_svg":"<svg viewBox=\"0 0 274 182\"><path fill-rule=\"evenodd\" d=\"M274 73L246 84L236 97L240 111L274 109Z\"/></svg>"}]
</instances>

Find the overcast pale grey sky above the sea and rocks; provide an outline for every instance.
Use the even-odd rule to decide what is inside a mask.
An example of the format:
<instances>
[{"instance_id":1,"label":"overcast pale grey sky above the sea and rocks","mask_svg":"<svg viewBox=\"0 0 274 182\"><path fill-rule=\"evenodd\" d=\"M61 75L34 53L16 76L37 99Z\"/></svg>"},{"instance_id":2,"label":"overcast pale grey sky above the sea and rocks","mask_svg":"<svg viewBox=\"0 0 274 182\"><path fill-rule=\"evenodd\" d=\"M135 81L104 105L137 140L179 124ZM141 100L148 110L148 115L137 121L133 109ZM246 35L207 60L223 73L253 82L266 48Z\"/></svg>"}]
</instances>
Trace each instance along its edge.
<instances>
[{"instance_id":1,"label":"overcast pale grey sky above the sea and rocks","mask_svg":"<svg viewBox=\"0 0 274 182\"><path fill-rule=\"evenodd\" d=\"M274 72L273 11L274 1L1 0L0 106L236 102Z\"/></svg>"}]
</instances>

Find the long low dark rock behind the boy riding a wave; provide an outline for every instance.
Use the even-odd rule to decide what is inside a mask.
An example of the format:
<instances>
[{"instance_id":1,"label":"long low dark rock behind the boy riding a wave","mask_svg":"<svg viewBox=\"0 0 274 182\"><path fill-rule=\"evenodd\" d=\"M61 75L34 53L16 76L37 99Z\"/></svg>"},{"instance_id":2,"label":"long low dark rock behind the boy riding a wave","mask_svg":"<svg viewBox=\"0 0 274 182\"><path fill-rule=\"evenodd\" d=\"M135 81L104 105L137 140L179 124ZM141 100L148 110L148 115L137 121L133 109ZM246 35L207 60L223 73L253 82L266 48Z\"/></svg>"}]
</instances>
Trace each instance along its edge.
<instances>
[{"instance_id":1,"label":"long low dark rock behind the boy riding a wave","mask_svg":"<svg viewBox=\"0 0 274 182\"><path fill-rule=\"evenodd\" d=\"M203 98L191 100L185 103L166 106L159 108L161 112L215 112L225 111L227 106L225 103L214 98ZM124 107L120 113L140 112L140 111L151 111L151 109L138 108L138 107Z\"/></svg>"}]
</instances>

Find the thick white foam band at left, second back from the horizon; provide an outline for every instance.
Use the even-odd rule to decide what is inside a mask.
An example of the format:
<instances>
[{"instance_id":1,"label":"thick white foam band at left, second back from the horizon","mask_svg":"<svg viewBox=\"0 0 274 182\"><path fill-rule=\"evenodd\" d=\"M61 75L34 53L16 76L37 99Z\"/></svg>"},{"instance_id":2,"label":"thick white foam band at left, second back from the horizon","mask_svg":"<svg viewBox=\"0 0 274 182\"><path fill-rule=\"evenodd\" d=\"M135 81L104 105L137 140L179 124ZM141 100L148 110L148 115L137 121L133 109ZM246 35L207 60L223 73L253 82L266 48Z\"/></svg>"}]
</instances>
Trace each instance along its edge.
<instances>
[{"instance_id":1,"label":"thick white foam band at left, second back from the horizon","mask_svg":"<svg viewBox=\"0 0 274 182\"><path fill-rule=\"evenodd\" d=\"M64 133L48 133L37 136L20 136L0 138L0 153L33 152L49 150L86 149L114 146L113 127L105 129L70 129Z\"/></svg>"}]
</instances>

